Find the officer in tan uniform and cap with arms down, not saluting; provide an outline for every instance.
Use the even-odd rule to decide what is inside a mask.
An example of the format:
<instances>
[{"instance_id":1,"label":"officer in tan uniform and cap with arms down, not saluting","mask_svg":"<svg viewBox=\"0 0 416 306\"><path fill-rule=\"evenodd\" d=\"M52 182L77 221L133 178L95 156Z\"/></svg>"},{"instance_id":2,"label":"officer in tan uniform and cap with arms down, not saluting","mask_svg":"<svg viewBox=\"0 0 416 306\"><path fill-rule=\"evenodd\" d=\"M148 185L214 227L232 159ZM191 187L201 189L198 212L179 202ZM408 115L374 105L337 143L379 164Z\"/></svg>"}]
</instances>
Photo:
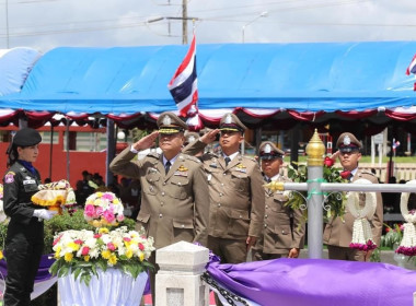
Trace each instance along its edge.
<instances>
[{"instance_id":1,"label":"officer in tan uniform and cap with arms down, not saluting","mask_svg":"<svg viewBox=\"0 0 416 306\"><path fill-rule=\"evenodd\" d=\"M264 184L270 181L290 181L280 175L285 152L270 141L259 146ZM253 248L253 260L268 260L280 257L298 258L303 248L304 221L300 210L286 207L289 200L282 191L265 188L265 215L263 235Z\"/></svg>"}]
</instances>

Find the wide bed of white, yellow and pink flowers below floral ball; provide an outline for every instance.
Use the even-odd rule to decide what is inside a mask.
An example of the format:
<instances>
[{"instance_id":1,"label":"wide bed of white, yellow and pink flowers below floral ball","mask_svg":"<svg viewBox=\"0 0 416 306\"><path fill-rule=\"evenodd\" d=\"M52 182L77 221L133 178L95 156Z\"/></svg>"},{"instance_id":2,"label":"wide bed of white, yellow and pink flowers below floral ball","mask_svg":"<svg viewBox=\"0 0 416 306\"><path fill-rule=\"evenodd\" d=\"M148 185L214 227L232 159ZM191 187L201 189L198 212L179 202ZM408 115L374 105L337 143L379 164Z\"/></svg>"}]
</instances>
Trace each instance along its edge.
<instances>
[{"instance_id":1,"label":"wide bed of white, yellow and pink flowers below floral ball","mask_svg":"<svg viewBox=\"0 0 416 306\"><path fill-rule=\"evenodd\" d=\"M93 231L66 231L55 237L56 261L50 272L58 276L73 273L81 282L89 284L92 275L108 267L120 269L136 279L152 268L147 261L154 250L153 239L145 233L127 231L126 226L109 231L106 227Z\"/></svg>"}]
</instances>

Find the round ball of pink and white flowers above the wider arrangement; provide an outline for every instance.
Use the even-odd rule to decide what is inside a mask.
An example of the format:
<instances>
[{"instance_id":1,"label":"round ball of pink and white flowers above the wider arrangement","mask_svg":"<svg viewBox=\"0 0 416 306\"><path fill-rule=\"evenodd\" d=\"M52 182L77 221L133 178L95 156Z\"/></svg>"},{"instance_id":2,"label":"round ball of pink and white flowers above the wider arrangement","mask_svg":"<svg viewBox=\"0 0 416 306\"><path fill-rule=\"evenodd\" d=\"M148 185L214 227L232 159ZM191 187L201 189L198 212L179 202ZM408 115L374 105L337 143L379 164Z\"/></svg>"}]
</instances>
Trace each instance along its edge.
<instances>
[{"instance_id":1,"label":"round ball of pink and white flowers above the wider arrangement","mask_svg":"<svg viewBox=\"0 0 416 306\"><path fill-rule=\"evenodd\" d=\"M115 226L124 220L124 207L113 192L95 192L86 198L84 217L95 227Z\"/></svg>"}]
</instances>

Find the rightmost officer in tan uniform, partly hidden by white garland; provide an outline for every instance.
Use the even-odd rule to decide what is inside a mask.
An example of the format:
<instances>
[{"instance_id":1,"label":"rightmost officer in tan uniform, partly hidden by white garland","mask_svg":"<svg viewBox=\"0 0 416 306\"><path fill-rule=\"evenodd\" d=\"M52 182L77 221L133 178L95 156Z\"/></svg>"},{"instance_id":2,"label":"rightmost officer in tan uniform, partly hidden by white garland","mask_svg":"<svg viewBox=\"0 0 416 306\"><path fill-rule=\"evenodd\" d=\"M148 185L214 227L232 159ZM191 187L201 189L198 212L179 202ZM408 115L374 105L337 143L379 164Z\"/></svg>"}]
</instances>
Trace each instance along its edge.
<instances>
[{"instance_id":1,"label":"rightmost officer in tan uniform, partly hidden by white garland","mask_svg":"<svg viewBox=\"0 0 416 306\"><path fill-rule=\"evenodd\" d=\"M363 172L358 168L358 162L361 158L362 144L357 138L348 132L342 133L336 142L338 151L332 156L338 157L344 172L349 174L349 180L355 181L359 178L370 180L378 184L377 177L370 172ZM380 246L381 232L383 226L383 202L381 193L377 195L377 208L372 220L369 220L372 228L373 242ZM363 205L365 198L360 197L360 204ZM344 222L340 217L330 220L324 231L324 244L328 247L330 259L367 261L371 256L371 251L361 251L349 247L353 239L353 214L346 210Z\"/></svg>"}]
</instances>

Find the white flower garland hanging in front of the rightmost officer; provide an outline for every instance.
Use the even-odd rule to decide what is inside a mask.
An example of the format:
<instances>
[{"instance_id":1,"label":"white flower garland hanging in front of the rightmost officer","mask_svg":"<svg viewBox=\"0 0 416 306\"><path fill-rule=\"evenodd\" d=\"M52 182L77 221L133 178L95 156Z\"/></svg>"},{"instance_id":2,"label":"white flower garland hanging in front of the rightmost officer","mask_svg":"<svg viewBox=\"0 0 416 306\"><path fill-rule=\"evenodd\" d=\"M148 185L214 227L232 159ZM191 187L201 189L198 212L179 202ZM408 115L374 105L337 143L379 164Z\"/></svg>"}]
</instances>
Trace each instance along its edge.
<instances>
[{"instance_id":1,"label":"white flower garland hanging in front of the rightmost officer","mask_svg":"<svg viewBox=\"0 0 416 306\"><path fill-rule=\"evenodd\" d=\"M354 184L371 184L368 179L357 179ZM347 195L347 209L353 214L356 220L353 225L353 239L349 244L350 248L359 249L359 250L372 250L377 248L372 239L372 231L369 219L375 213L377 198L375 192L366 192L366 203L365 207L360 207L359 202L359 193L350 191Z\"/></svg>"}]
</instances>

